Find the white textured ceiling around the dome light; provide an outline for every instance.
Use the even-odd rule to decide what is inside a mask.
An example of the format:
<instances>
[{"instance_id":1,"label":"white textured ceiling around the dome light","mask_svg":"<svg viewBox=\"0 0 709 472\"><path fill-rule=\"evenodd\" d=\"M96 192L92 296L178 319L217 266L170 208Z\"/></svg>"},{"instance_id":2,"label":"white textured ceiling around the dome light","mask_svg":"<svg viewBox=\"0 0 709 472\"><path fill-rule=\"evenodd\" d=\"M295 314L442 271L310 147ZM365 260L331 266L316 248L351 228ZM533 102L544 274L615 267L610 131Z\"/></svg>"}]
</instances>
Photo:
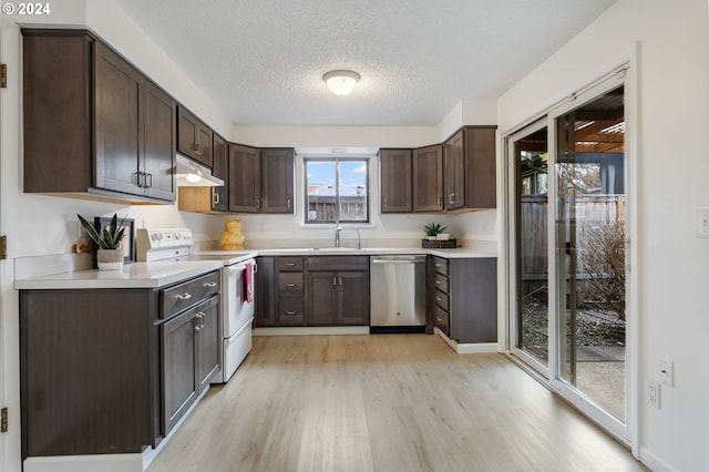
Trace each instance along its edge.
<instances>
[{"instance_id":1,"label":"white textured ceiling around the dome light","mask_svg":"<svg viewBox=\"0 0 709 472\"><path fill-rule=\"evenodd\" d=\"M616 0L116 0L237 124L434 125ZM336 96L322 74L362 79Z\"/></svg>"}]
</instances>

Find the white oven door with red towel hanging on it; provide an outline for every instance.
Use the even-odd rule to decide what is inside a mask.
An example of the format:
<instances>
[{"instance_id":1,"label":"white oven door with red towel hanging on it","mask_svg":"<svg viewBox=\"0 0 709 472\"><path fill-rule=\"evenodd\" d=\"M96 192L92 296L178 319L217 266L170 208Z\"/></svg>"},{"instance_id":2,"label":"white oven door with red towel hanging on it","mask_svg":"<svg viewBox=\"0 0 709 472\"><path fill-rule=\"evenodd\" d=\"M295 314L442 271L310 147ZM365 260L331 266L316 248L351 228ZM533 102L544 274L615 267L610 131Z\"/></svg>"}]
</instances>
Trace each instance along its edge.
<instances>
[{"instance_id":1,"label":"white oven door with red towel hanging on it","mask_svg":"<svg viewBox=\"0 0 709 472\"><path fill-rule=\"evenodd\" d=\"M255 280L254 268L256 261L248 259L239 264L226 266L222 270L222 308L223 314L223 334L224 338L230 338L239 330L246 322L254 317L254 297ZM247 277L247 271L249 277ZM250 280L250 301L247 297L247 280Z\"/></svg>"}]
</instances>

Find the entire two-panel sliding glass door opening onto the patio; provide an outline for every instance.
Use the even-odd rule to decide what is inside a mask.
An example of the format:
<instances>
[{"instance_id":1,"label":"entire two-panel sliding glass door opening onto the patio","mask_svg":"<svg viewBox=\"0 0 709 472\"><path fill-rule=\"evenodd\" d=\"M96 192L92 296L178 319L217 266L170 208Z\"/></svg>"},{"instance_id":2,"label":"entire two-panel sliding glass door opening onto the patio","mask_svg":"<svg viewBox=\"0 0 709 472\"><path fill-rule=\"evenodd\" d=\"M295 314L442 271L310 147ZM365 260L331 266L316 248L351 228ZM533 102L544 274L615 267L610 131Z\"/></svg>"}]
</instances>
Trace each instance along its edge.
<instances>
[{"instance_id":1,"label":"entire two-panel sliding glass door opening onto the patio","mask_svg":"<svg viewBox=\"0 0 709 472\"><path fill-rule=\"evenodd\" d=\"M506 136L506 233L510 352L626 439L623 78Z\"/></svg>"}]
</instances>

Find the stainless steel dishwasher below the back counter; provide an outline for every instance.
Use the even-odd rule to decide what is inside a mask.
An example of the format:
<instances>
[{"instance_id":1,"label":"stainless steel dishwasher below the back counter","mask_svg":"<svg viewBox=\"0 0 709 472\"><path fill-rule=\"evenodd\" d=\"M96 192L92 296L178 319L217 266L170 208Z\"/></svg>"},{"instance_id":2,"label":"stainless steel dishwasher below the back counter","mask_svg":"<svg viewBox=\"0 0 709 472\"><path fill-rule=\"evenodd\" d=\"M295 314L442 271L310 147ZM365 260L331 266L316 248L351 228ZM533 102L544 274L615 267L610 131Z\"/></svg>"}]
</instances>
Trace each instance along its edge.
<instances>
[{"instance_id":1,"label":"stainless steel dishwasher below the back counter","mask_svg":"<svg viewBox=\"0 0 709 472\"><path fill-rule=\"evenodd\" d=\"M370 332L425 332L425 256L372 256L370 277Z\"/></svg>"}]
</instances>

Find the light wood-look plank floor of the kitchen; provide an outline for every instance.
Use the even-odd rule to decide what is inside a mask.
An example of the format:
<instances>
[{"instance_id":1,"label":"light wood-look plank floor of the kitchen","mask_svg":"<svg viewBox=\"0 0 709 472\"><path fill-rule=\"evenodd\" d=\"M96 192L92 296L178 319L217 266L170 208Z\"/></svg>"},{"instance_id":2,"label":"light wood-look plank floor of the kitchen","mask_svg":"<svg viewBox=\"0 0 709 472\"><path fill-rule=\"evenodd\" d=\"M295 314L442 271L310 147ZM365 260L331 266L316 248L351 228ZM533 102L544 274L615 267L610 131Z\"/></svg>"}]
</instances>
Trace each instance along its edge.
<instances>
[{"instance_id":1,"label":"light wood-look plank floor of the kitchen","mask_svg":"<svg viewBox=\"0 0 709 472\"><path fill-rule=\"evenodd\" d=\"M640 471L504 356L438 336L254 338L148 472Z\"/></svg>"}]
</instances>

